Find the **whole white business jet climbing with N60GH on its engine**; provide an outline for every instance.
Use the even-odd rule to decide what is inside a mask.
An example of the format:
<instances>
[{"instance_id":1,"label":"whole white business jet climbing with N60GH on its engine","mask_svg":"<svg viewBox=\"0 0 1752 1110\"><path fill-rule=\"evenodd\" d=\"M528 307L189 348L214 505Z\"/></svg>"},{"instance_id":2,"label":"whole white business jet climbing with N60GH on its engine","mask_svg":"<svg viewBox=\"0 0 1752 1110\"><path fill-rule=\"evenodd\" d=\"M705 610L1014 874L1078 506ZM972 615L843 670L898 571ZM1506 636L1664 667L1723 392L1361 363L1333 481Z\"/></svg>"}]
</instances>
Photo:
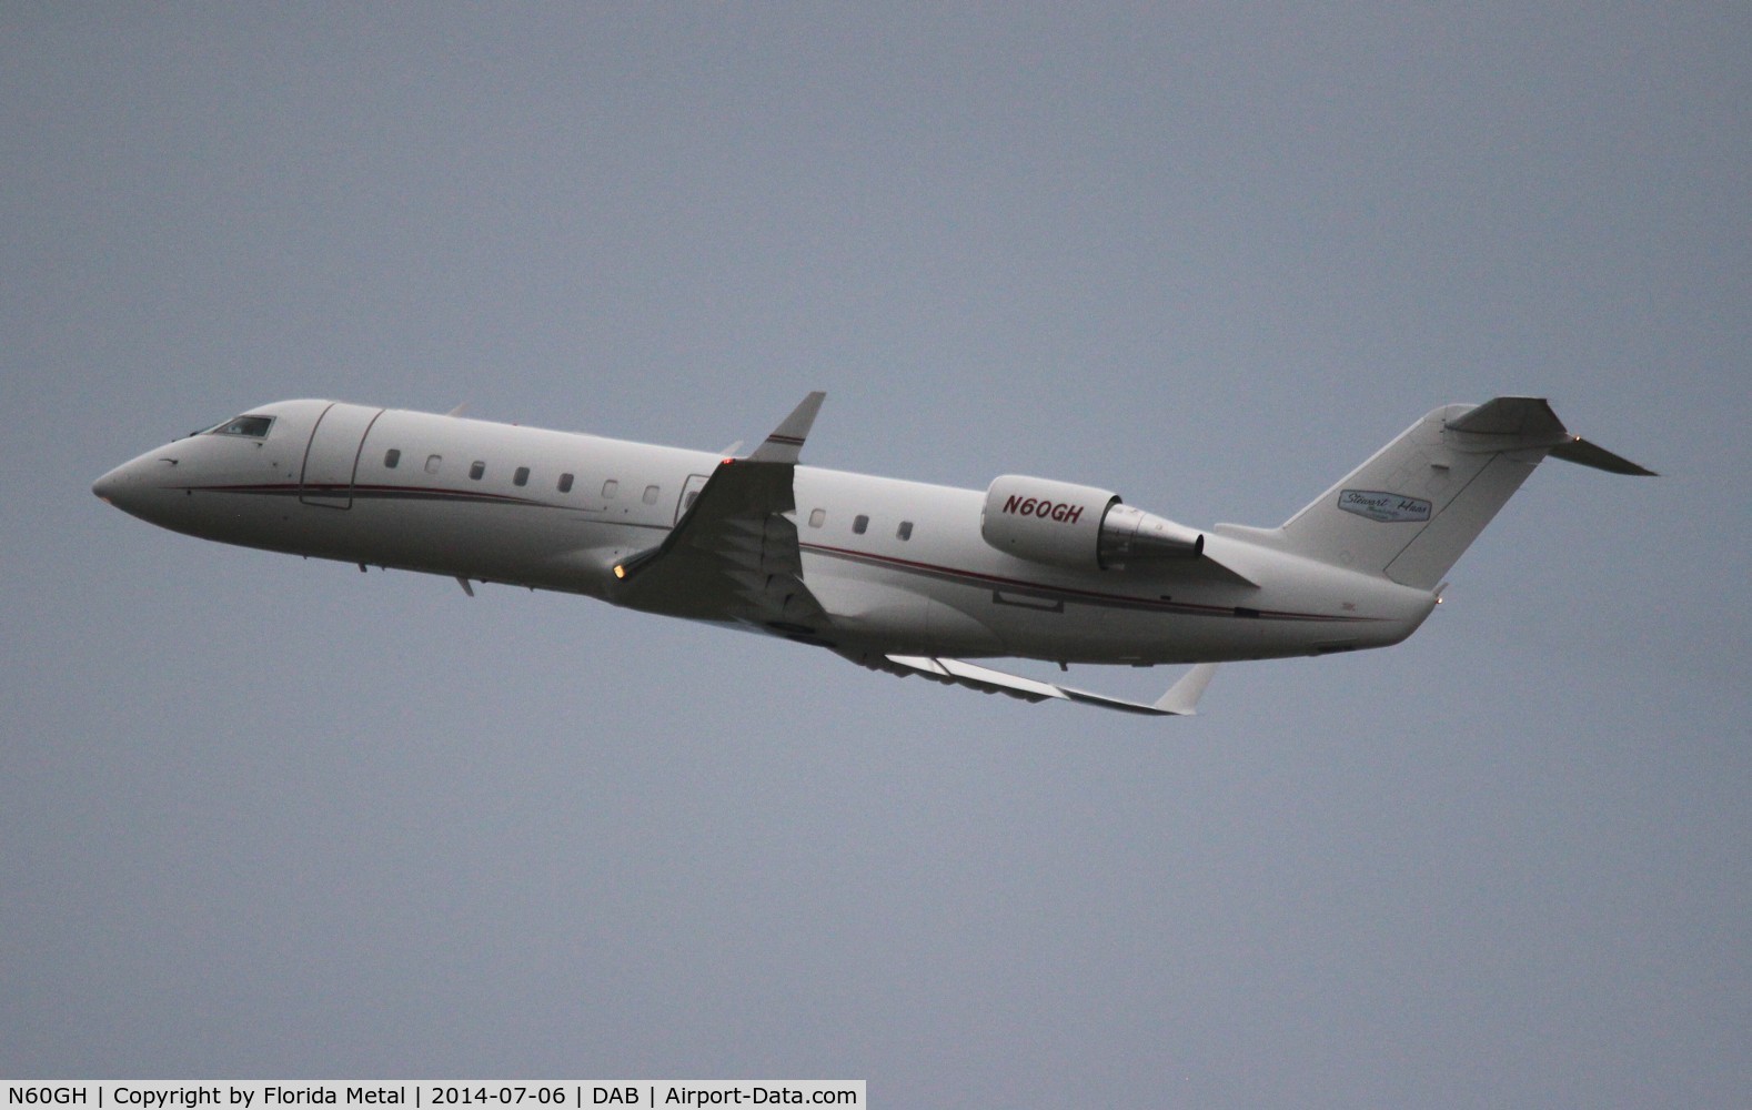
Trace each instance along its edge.
<instances>
[{"instance_id":1,"label":"whole white business jet climbing with N60GH on its engine","mask_svg":"<svg viewBox=\"0 0 1752 1110\"><path fill-rule=\"evenodd\" d=\"M1649 474L1537 397L1449 404L1282 527L1207 532L1104 488L799 466L823 394L745 457L280 401L103 474L103 501L251 548L564 590L986 693L1190 714L1223 660L1396 644L1547 455ZM1197 664L1153 704L964 662Z\"/></svg>"}]
</instances>

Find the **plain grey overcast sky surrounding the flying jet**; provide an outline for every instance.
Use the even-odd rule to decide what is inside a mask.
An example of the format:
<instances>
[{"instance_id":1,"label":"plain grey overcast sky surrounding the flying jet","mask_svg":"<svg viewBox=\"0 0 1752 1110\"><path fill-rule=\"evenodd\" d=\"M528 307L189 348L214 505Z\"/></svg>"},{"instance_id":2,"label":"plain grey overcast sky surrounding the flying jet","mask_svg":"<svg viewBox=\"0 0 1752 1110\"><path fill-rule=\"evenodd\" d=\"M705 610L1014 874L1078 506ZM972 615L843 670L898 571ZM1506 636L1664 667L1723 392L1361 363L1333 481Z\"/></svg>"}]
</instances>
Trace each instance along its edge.
<instances>
[{"instance_id":1,"label":"plain grey overcast sky surrounding the flying jet","mask_svg":"<svg viewBox=\"0 0 1752 1110\"><path fill-rule=\"evenodd\" d=\"M0 1075L1752 1098L1752 12L0 9ZM1195 720L156 530L340 397L1272 525L1494 394L1407 644ZM1077 669L1153 695L1170 672Z\"/></svg>"}]
</instances>

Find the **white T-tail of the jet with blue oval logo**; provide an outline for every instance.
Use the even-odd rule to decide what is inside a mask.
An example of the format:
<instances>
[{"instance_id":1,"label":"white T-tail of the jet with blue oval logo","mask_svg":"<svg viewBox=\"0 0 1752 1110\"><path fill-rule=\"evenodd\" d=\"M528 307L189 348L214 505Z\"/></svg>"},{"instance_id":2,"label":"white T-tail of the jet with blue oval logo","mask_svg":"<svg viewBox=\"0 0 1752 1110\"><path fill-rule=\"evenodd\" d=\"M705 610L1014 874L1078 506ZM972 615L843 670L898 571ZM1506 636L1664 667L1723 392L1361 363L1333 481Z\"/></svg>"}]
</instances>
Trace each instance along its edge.
<instances>
[{"instance_id":1,"label":"white T-tail of the jet with blue oval logo","mask_svg":"<svg viewBox=\"0 0 1752 1110\"><path fill-rule=\"evenodd\" d=\"M1544 397L1496 397L1431 411L1279 529L1219 530L1435 590L1547 455L1654 474L1572 436Z\"/></svg>"}]
</instances>

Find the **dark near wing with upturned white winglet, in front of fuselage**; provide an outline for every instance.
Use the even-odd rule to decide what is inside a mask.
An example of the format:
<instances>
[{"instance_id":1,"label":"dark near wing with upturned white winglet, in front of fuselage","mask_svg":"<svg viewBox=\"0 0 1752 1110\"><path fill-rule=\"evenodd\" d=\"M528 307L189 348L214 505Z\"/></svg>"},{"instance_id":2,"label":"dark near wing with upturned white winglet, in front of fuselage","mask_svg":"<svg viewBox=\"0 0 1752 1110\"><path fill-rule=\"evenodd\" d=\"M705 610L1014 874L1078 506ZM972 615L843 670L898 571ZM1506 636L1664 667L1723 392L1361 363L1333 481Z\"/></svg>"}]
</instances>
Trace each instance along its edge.
<instances>
[{"instance_id":1,"label":"dark near wing with upturned white winglet, in front of fuselage","mask_svg":"<svg viewBox=\"0 0 1752 1110\"><path fill-rule=\"evenodd\" d=\"M790 513L797 457L825 396L804 397L746 459L720 462L669 536L615 567L615 601L822 643L830 623L802 583Z\"/></svg>"}]
</instances>

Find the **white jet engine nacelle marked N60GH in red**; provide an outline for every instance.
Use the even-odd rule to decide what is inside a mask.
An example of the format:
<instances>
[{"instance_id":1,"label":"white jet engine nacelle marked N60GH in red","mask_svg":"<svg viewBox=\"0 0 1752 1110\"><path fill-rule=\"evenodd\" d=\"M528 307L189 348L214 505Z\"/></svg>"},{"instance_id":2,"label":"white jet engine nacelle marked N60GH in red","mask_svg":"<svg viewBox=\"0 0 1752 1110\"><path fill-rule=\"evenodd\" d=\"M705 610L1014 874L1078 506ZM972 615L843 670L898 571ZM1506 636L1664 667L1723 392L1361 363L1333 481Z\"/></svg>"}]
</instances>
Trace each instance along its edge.
<instances>
[{"instance_id":1,"label":"white jet engine nacelle marked N60GH in red","mask_svg":"<svg viewBox=\"0 0 1752 1110\"><path fill-rule=\"evenodd\" d=\"M1074 571L1204 553L1200 532L1134 509L1113 490L1021 474L986 490L979 536L1016 559Z\"/></svg>"}]
</instances>

